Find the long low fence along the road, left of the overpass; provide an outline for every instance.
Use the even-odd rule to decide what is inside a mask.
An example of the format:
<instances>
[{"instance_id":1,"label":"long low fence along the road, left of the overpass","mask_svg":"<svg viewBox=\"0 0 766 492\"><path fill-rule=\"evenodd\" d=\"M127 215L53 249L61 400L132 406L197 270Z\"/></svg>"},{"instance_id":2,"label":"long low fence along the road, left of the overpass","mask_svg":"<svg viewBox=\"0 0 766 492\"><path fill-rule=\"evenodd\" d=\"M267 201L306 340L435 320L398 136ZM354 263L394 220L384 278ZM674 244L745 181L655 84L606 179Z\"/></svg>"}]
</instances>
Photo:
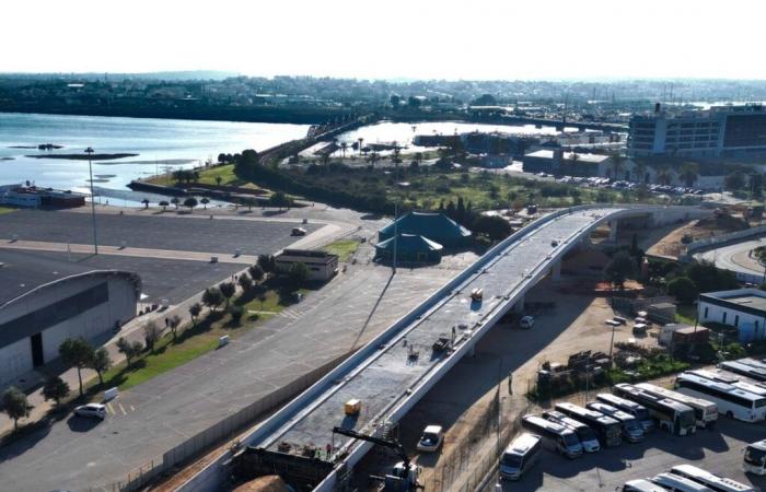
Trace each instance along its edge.
<instances>
[{"instance_id":1,"label":"long low fence along the road, left of the overpass","mask_svg":"<svg viewBox=\"0 0 766 492\"><path fill-rule=\"evenodd\" d=\"M338 365L349 353L333 359L330 362L304 374L293 382L282 386L257 401L248 405L236 413L227 417L217 424L199 432L190 438L184 441L174 448L162 455L162 458L151 460L139 468L128 472L125 480L112 482L93 490L130 492L139 490L156 479L162 473L184 464L188 459L197 456L204 449L222 443L227 438L233 437L245 426L252 424L266 411L276 408L280 403L293 398L299 393L316 383L322 376Z\"/></svg>"}]
</instances>

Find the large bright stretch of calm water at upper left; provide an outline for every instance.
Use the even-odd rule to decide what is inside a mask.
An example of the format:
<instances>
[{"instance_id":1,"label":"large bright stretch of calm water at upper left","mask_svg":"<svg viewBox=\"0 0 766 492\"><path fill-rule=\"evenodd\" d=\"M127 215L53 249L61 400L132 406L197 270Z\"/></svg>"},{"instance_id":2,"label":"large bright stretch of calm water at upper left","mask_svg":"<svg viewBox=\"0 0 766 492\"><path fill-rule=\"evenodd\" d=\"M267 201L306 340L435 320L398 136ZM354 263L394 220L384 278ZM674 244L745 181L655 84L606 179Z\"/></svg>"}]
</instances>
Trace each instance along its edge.
<instances>
[{"instance_id":1,"label":"large bright stretch of calm water at upper left","mask_svg":"<svg viewBox=\"0 0 766 492\"><path fill-rule=\"evenodd\" d=\"M109 190L127 190L131 179L216 160L221 152L264 150L305 137L307 125L196 121L100 116L22 115L0 113L0 184L34 181L38 186L88 191L88 161L30 159L45 154L39 143L63 145L53 152L137 153L136 157L94 162L94 183ZM33 145L35 149L11 149ZM12 160L2 160L13 157Z\"/></svg>"}]
</instances>

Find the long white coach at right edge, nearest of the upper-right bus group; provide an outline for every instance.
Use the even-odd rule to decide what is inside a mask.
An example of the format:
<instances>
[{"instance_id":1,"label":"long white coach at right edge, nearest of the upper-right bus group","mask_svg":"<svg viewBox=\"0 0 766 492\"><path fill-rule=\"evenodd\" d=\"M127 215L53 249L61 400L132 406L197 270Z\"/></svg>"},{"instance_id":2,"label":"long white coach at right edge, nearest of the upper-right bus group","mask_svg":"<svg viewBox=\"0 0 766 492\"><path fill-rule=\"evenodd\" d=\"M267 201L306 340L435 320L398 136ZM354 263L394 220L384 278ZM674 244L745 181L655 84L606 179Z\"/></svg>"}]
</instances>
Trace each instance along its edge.
<instances>
[{"instance_id":1,"label":"long white coach at right edge, nearest of the upper-right bus group","mask_svg":"<svg viewBox=\"0 0 766 492\"><path fill-rule=\"evenodd\" d=\"M759 422L766 419L765 397L744 391L726 383L682 373L675 379L675 389L684 395L712 401L718 405L719 411L730 418L745 422Z\"/></svg>"}]
</instances>

